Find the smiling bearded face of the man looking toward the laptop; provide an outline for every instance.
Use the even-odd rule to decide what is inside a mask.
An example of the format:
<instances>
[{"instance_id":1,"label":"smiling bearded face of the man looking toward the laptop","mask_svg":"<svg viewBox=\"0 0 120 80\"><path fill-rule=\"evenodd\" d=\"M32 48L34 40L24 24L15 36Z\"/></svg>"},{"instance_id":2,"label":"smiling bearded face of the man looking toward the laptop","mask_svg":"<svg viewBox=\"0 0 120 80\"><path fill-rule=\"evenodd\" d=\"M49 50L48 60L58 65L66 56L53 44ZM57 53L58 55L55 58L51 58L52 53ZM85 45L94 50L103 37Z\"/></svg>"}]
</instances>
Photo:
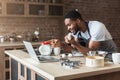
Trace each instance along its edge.
<instances>
[{"instance_id":1,"label":"smiling bearded face of the man looking toward the laptop","mask_svg":"<svg viewBox=\"0 0 120 80\"><path fill-rule=\"evenodd\" d=\"M72 32L73 34L76 34L77 31L80 30L80 27L78 26L76 21L73 21L70 18L66 18L64 22L67 26L68 31Z\"/></svg>"}]
</instances>

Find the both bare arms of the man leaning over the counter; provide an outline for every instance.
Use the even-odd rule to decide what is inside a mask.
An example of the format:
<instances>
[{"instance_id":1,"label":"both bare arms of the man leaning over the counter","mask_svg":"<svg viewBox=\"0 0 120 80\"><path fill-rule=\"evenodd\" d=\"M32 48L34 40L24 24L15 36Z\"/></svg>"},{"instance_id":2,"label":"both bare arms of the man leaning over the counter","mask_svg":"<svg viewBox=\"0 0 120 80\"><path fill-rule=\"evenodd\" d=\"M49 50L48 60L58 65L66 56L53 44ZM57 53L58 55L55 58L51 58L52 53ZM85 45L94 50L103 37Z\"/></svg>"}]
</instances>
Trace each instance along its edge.
<instances>
[{"instance_id":1,"label":"both bare arms of the man leaning over the counter","mask_svg":"<svg viewBox=\"0 0 120 80\"><path fill-rule=\"evenodd\" d=\"M100 47L99 41L89 41L88 47L84 47L80 45L77 41L74 39L68 40L68 42L72 45L68 45L68 43L62 43L58 39L53 39L51 41L53 47L61 47L64 49L65 52L70 52L74 49L77 49L79 52L81 52L84 55L87 55L88 51L97 50Z\"/></svg>"}]
</instances>

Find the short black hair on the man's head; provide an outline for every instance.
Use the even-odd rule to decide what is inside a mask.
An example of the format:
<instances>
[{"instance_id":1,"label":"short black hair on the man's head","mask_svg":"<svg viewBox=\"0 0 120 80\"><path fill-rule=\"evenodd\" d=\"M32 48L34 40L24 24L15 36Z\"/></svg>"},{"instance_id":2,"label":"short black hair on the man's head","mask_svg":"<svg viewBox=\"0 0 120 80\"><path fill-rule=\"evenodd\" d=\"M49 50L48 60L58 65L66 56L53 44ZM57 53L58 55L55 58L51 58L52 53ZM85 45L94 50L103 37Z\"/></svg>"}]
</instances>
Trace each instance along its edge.
<instances>
[{"instance_id":1,"label":"short black hair on the man's head","mask_svg":"<svg viewBox=\"0 0 120 80\"><path fill-rule=\"evenodd\" d=\"M69 11L69 12L65 15L64 18L65 18L65 19L66 19L66 18L70 18L70 19L72 19L72 20L76 20L76 19L79 18L79 19L83 20L82 15L81 15L78 11L76 11L76 10Z\"/></svg>"}]
</instances>

